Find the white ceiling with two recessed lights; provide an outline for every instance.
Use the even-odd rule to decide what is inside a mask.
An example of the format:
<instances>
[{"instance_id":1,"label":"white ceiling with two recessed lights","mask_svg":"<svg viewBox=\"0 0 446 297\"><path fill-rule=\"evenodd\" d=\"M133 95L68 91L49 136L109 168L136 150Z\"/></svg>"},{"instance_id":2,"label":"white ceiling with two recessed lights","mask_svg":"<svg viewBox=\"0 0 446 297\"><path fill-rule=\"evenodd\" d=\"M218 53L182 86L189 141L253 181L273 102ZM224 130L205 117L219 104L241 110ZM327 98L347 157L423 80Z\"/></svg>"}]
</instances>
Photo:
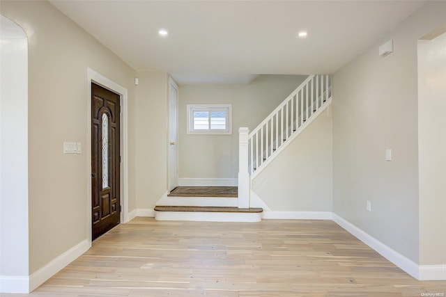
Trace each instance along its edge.
<instances>
[{"instance_id":1,"label":"white ceiling with two recessed lights","mask_svg":"<svg viewBox=\"0 0 446 297\"><path fill-rule=\"evenodd\" d=\"M331 74L426 1L50 2L134 70L247 83L256 74ZM307 38L297 38L302 30Z\"/></svg>"}]
</instances>

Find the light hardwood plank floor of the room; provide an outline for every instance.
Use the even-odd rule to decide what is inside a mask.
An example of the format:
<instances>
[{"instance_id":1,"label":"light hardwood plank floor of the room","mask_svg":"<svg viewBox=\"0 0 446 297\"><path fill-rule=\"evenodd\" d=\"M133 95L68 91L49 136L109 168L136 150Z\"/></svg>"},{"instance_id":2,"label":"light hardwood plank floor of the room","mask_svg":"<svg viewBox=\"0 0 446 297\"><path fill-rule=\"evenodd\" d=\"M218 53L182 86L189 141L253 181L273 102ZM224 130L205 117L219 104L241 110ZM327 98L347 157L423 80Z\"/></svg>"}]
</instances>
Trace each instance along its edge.
<instances>
[{"instance_id":1,"label":"light hardwood plank floor of the room","mask_svg":"<svg viewBox=\"0 0 446 297\"><path fill-rule=\"evenodd\" d=\"M429 296L330 220L118 225L32 294L2 296ZM431 295L435 296L435 295Z\"/></svg>"}]
</instances>

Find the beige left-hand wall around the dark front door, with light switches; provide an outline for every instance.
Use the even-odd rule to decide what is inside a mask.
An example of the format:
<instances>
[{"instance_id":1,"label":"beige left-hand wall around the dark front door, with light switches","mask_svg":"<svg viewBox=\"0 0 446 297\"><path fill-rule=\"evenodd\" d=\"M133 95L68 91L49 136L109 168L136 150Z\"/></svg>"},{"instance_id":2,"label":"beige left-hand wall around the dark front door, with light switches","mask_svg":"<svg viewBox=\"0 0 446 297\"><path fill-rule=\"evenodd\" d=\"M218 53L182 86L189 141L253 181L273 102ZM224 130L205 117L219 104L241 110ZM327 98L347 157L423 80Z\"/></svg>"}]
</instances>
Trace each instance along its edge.
<instances>
[{"instance_id":1,"label":"beige left-hand wall around the dark front door, with light switches","mask_svg":"<svg viewBox=\"0 0 446 297\"><path fill-rule=\"evenodd\" d=\"M87 237L87 67L128 89L130 210L134 202L134 70L46 1L1 1L29 40L29 273ZM13 222L11 222L13 223Z\"/></svg>"}]
</instances>

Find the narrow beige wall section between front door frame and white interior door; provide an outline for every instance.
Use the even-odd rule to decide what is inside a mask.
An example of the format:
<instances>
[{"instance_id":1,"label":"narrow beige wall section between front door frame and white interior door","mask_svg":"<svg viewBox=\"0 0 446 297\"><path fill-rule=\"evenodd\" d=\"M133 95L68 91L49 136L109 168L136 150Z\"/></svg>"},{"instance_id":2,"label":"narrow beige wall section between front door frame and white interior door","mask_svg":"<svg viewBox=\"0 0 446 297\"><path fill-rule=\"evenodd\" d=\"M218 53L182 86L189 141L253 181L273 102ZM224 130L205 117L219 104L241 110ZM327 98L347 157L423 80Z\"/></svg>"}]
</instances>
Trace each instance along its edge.
<instances>
[{"instance_id":1,"label":"narrow beige wall section between front door frame and white interior door","mask_svg":"<svg viewBox=\"0 0 446 297\"><path fill-rule=\"evenodd\" d=\"M136 104L136 197L138 209L153 209L167 191L169 77L139 72Z\"/></svg>"}]
</instances>

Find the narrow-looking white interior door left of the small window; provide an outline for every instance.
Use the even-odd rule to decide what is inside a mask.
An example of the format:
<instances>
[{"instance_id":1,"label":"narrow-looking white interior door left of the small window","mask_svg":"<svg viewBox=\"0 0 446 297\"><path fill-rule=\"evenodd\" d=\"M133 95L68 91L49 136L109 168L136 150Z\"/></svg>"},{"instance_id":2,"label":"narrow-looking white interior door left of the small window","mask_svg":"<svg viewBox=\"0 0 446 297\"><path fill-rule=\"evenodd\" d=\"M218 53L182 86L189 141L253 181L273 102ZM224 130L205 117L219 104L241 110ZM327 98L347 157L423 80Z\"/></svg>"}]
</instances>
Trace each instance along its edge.
<instances>
[{"instance_id":1,"label":"narrow-looking white interior door left of the small window","mask_svg":"<svg viewBox=\"0 0 446 297\"><path fill-rule=\"evenodd\" d=\"M169 80L169 190L178 186L178 86Z\"/></svg>"}]
</instances>

